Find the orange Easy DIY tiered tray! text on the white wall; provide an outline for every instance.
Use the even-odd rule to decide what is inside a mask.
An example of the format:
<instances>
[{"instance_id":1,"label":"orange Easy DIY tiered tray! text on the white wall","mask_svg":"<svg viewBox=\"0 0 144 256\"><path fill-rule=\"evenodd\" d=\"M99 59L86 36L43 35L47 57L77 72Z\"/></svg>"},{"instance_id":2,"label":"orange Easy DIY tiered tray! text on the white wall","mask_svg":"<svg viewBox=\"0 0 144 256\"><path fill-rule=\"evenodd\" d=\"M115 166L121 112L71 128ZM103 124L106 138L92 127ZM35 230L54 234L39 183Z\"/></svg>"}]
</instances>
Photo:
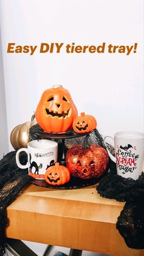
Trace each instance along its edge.
<instances>
[{"instance_id":1,"label":"orange Easy DIY tiered tray! text on the white wall","mask_svg":"<svg viewBox=\"0 0 144 256\"><path fill-rule=\"evenodd\" d=\"M7 53L119 53L129 55L137 52L137 43L133 45L107 45L105 42L101 45L76 45L71 43L41 43L38 45L16 45L16 43L8 43Z\"/></svg>"}]
</instances>

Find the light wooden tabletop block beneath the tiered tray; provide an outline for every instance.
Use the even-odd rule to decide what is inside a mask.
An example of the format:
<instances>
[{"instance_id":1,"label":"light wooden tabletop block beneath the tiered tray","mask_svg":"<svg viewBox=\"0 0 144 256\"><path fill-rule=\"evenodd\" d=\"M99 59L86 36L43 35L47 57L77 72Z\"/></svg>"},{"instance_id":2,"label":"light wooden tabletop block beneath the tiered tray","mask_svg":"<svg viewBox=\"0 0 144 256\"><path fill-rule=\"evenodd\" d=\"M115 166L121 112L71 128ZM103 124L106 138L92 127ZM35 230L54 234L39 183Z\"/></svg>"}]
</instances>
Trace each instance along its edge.
<instances>
[{"instance_id":1,"label":"light wooden tabletop block beneath the tiered tray","mask_svg":"<svg viewBox=\"0 0 144 256\"><path fill-rule=\"evenodd\" d=\"M101 252L142 256L126 246L116 229L124 203L103 199L94 187L56 190L29 185L7 208L6 236Z\"/></svg>"}]
</instances>

